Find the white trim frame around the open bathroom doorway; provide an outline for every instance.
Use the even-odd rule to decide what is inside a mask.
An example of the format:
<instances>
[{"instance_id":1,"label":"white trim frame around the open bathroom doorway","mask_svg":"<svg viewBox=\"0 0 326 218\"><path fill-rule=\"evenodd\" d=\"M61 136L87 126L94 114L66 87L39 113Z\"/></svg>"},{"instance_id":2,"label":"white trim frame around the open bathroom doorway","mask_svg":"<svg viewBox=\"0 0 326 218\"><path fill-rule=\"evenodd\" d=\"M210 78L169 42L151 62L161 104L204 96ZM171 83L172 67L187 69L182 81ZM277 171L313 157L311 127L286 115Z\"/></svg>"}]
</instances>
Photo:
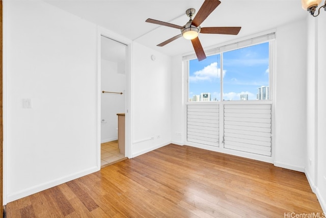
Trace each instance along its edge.
<instances>
[{"instance_id":1,"label":"white trim frame around the open bathroom doorway","mask_svg":"<svg viewBox=\"0 0 326 218\"><path fill-rule=\"evenodd\" d=\"M125 91L125 156L132 157L131 152L131 52L132 41L107 29L97 28L97 166L101 167L101 36L127 45L126 52L126 91ZM117 121L118 122L118 121Z\"/></svg>"}]
</instances>

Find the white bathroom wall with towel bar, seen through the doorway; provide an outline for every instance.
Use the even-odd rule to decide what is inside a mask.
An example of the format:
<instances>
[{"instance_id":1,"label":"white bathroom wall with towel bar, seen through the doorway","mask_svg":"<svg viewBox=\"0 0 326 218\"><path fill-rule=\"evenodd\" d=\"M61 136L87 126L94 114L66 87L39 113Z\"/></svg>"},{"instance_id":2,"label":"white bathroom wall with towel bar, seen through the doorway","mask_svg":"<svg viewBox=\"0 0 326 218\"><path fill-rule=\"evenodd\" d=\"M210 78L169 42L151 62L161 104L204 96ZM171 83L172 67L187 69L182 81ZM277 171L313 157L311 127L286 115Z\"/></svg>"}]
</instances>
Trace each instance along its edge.
<instances>
[{"instance_id":1,"label":"white bathroom wall with towel bar, seen through the doorway","mask_svg":"<svg viewBox=\"0 0 326 218\"><path fill-rule=\"evenodd\" d=\"M101 90L124 92L101 93L101 143L118 139L117 113L125 112L126 85L125 65L101 59Z\"/></svg>"}]
</instances>

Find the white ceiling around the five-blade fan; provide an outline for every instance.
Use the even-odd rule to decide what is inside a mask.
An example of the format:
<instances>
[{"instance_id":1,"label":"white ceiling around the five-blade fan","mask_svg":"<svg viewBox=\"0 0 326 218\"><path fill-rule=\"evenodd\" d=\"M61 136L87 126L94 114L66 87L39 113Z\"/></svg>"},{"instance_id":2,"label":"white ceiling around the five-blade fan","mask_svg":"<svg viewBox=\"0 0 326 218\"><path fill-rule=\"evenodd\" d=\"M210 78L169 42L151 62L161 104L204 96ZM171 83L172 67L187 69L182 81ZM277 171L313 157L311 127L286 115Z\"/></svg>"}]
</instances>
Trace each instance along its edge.
<instances>
[{"instance_id":1,"label":"white ceiling around the five-blade fan","mask_svg":"<svg viewBox=\"0 0 326 218\"><path fill-rule=\"evenodd\" d=\"M203 0L61 0L47 3L151 47L167 55L193 52L191 41L179 38L163 47L159 44L180 34L180 30L147 23L147 18L185 25L188 8L199 10ZM202 46L209 47L304 19L308 12L300 0L221 0L201 27L242 27L237 36L200 34ZM196 14L195 14L196 16Z\"/></svg>"}]
</instances>

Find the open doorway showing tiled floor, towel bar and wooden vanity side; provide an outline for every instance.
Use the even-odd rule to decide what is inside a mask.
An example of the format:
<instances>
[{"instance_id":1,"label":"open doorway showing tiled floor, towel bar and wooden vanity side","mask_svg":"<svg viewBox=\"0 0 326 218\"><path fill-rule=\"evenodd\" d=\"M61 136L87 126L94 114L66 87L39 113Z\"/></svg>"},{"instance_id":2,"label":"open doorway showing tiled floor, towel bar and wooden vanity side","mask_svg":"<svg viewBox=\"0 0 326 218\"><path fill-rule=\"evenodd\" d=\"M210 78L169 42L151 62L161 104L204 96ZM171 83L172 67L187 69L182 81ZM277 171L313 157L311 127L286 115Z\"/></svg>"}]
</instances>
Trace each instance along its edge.
<instances>
[{"instance_id":1,"label":"open doorway showing tiled floor, towel bar and wooden vanity side","mask_svg":"<svg viewBox=\"0 0 326 218\"><path fill-rule=\"evenodd\" d=\"M125 159L126 55L126 44L101 35L101 167Z\"/></svg>"}]
</instances>

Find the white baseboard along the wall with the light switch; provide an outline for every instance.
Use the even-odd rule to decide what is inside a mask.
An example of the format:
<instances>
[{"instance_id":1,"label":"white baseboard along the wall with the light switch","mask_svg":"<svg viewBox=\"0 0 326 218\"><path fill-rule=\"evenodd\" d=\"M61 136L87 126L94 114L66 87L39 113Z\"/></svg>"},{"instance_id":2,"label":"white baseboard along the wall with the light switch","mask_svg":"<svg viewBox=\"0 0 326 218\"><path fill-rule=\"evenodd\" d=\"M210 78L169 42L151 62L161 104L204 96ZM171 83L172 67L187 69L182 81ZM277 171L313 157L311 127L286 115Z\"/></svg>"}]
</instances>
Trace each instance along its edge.
<instances>
[{"instance_id":1,"label":"white baseboard along the wall with the light switch","mask_svg":"<svg viewBox=\"0 0 326 218\"><path fill-rule=\"evenodd\" d=\"M91 167L89 169L86 169L85 171L80 171L78 173L75 173L75 174L72 174L72 175L69 175L69 176L66 176L66 177L55 179L55 180L52 180L52 181L49 181L49 182L46 182L46 183L43 183L43 184L40 184L40 185L35 185L33 187L26 188L24 190L14 192L11 195L7 195L6 203L9 203L9 202L24 198L26 196L33 195L34 193L37 193L37 192L43 191L45 189L48 189L48 188L63 184L65 182L69 182L71 180L77 179L79 177L86 176L86 175L91 174L91 173L95 173L95 172L97 172L99 170L100 170L100 167L98 167L98 166Z\"/></svg>"}]
</instances>

